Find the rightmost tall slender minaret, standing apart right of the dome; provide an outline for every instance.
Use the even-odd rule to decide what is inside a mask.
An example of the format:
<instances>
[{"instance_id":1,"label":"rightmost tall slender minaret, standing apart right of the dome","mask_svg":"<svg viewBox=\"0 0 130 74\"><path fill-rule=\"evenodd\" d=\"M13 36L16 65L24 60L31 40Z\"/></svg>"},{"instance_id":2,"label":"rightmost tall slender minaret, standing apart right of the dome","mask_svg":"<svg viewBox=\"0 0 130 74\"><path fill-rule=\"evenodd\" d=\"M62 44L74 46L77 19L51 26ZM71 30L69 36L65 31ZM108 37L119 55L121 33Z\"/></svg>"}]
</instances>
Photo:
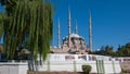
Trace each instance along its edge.
<instances>
[{"instance_id":1,"label":"rightmost tall slender minaret, standing apart right of the dome","mask_svg":"<svg viewBox=\"0 0 130 74\"><path fill-rule=\"evenodd\" d=\"M89 51L92 51L91 11L89 10Z\"/></svg>"}]
</instances>

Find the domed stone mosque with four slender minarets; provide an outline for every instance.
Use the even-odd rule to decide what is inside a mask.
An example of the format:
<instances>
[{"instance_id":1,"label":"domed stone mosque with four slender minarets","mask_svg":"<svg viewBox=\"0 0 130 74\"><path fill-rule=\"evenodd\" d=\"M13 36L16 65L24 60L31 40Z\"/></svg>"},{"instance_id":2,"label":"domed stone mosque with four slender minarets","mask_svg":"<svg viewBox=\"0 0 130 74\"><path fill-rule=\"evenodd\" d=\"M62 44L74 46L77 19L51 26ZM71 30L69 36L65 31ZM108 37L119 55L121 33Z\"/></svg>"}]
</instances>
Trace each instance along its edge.
<instances>
[{"instance_id":1,"label":"domed stone mosque with four slender minarets","mask_svg":"<svg viewBox=\"0 0 130 74\"><path fill-rule=\"evenodd\" d=\"M76 23L75 33L72 33L72 17L68 10L68 34L61 42L61 24L58 20L57 26L57 47L51 47L51 53L68 53L68 54L88 54L91 51L91 12L89 12L89 45L84 42L84 38L78 35L78 25Z\"/></svg>"}]
</instances>

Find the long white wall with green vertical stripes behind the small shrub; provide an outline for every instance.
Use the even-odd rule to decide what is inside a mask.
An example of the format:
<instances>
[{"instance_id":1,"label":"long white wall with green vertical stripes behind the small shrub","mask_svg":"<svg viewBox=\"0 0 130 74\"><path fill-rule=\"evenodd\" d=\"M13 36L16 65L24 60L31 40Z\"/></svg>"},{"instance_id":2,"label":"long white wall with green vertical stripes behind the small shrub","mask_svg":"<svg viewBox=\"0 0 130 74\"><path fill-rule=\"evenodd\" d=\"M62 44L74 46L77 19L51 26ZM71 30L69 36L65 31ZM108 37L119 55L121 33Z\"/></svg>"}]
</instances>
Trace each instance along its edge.
<instances>
[{"instance_id":1,"label":"long white wall with green vertical stripes behind the small shrub","mask_svg":"<svg viewBox=\"0 0 130 74\"><path fill-rule=\"evenodd\" d=\"M42 66L38 66L39 71L68 71L82 72L81 65L89 64L92 66L91 73L120 73L120 64L118 61L48 61Z\"/></svg>"}]
</instances>

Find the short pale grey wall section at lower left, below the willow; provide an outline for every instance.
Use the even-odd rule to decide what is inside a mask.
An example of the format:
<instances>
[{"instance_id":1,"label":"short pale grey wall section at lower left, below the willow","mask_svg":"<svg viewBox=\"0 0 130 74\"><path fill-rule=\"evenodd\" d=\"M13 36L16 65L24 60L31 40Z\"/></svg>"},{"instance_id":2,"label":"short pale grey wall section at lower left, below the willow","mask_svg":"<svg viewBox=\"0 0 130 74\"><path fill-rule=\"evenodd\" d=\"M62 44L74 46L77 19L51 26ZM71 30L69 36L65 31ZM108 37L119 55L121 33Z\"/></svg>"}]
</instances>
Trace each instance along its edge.
<instances>
[{"instance_id":1,"label":"short pale grey wall section at lower left, below the willow","mask_svg":"<svg viewBox=\"0 0 130 74\"><path fill-rule=\"evenodd\" d=\"M27 74L27 62L0 62L0 74Z\"/></svg>"}]
</instances>

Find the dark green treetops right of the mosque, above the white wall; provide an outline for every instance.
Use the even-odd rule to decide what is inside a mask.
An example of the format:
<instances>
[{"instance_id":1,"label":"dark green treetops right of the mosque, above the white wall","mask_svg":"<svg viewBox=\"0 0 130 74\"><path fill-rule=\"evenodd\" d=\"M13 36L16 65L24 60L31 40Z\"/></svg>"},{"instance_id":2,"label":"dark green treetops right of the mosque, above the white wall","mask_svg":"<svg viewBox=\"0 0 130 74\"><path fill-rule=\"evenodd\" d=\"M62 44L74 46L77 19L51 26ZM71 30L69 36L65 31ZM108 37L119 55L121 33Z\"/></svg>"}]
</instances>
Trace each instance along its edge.
<instances>
[{"instance_id":1,"label":"dark green treetops right of the mosque, above the white wall","mask_svg":"<svg viewBox=\"0 0 130 74\"><path fill-rule=\"evenodd\" d=\"M130 55L130 42L118 46L117 50L114 51L114 48L110 46L102 47L101 50L95 50L91 52L92 54L103 54L112 57L129 57Z\"/></svg>"}]
</instances>

